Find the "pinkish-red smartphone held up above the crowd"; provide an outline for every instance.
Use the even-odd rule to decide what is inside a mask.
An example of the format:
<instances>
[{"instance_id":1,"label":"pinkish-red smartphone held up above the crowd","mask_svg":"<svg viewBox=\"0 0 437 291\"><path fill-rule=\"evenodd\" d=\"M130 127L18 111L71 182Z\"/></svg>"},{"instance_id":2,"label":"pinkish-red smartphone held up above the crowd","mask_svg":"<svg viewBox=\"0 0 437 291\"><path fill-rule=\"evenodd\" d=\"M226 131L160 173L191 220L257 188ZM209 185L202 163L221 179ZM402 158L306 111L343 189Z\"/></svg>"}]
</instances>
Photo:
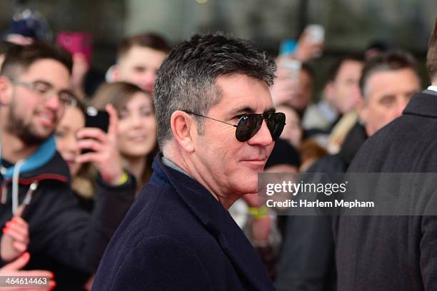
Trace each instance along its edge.
<instances>
[{"instance_id":1,"label":"pinkish-red smartphone held up above the crowd","mask_svg":"<svg viewBox=\"0 0 437 291\"><path fill-rule=\"evenodd\" d=\"M91 63L93 51L91 34L79 31L62 31L56 36L56 42L71 54L84 54L86 62Z\"/></svg>"}]
</instances>

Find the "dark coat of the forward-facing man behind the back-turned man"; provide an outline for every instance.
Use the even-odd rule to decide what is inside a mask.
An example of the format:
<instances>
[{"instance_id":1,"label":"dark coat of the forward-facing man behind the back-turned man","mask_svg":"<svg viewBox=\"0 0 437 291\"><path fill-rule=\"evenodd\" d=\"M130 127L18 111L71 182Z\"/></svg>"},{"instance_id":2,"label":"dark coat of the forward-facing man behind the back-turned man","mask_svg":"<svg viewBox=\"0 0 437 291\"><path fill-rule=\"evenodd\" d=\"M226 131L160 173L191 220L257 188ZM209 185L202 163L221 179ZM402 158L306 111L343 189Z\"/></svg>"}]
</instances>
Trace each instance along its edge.
<instances>
[{"instance_id":1,"label":"dark coat of the forward-facing man behind the back-turned man","mask_svg":"<svg viewBox=\"0 0 437 291\"><path fill-rule=\"evenodd\" d=\"M356 123L341 150L316 161L307 173L346 172L366 141L365 128ZM279 290L336 290L336 267L331 216L287 216L286 235L275 286Z\"/></svg>"}]
</instances>

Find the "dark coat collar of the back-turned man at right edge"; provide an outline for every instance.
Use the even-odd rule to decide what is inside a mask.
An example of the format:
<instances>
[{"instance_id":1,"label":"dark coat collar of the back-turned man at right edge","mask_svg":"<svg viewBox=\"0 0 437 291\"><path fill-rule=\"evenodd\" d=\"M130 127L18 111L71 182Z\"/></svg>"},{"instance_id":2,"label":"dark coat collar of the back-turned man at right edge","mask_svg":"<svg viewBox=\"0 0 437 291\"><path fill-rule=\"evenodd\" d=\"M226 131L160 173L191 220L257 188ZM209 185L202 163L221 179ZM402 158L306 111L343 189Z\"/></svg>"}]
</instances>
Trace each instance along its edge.
<instances>
[{"instance_id":1,"label":"dark coat collar of the back-turned man at right edge","mask_svg":"<svg viewBox=\"0 0 437 291\"><path fill-rule=\"evenodd\" d=\"M403 114L437 118L437 93L431 90L416 93L403 110Z\"/></svg>"}]
</instances>

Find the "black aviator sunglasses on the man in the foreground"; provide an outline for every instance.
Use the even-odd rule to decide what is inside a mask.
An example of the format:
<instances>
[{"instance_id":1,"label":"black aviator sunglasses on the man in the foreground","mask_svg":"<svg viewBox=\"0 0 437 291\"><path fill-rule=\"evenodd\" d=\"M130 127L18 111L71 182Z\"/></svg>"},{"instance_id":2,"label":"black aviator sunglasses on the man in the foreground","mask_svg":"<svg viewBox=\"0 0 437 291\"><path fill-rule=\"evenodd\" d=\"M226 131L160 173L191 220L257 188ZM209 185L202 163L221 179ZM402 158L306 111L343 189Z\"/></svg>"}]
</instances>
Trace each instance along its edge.
<instances>
[{"instance_id":1,"label":"black aviator sunglasses on the man in the foreground","mask_svg":"<svg viewBox=\"0 0 437 291\"><path fill-rule=\"evenodd\" d=\"M188 110L183 110L185 113L193 114L195 116L200 116L204 118L212 119L213 121L218 121L225 123L228 126L233 126L236 128L235 136L238 141L244 142L248 141L261 128L263 120L266 121L268 131L270 131L271 138L276 141L283 131L283 126L285 126L285 114L284 113L263 113L263 114L245 114L241 116L238 124L231 124L225 121L219 121L217 119L211 118L209 116L203 116L198 113L194 113Z\"/></svg>"}]
</instances>

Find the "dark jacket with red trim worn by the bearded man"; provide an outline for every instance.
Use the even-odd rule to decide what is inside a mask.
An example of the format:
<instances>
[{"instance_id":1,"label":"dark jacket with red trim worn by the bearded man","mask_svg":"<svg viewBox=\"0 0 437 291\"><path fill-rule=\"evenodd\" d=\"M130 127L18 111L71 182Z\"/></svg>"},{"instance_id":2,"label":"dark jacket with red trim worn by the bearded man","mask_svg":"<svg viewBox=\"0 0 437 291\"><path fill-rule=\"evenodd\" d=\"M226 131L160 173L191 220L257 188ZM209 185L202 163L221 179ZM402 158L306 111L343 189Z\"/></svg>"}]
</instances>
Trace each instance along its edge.
<instances>
[{"instance_id":1,"label":"dark jacket with red trim worn by the bearded man","mask_svg":"<svg viewBox=\"0 0 437 291\"><path fill-rule=\"evenodd\" d=\"M136 183L130 177L121 186L97 179L97 199L91 214L79 207L69 185L69 168L59 153L46 165L19 178L19 203L29 185L39 181L23 218L29 223L31 260L27 270L54 272L57 290L81 290L96 271L111 235L134 201ZM6 203L0 203L0 226L12 217L11 179L1 185L7 190ZM4 193L0 193L1 194ZM0 233L1 238L2 233ZM1 262L0 265L4 264Z\"/></svg>"}]
</instances>

